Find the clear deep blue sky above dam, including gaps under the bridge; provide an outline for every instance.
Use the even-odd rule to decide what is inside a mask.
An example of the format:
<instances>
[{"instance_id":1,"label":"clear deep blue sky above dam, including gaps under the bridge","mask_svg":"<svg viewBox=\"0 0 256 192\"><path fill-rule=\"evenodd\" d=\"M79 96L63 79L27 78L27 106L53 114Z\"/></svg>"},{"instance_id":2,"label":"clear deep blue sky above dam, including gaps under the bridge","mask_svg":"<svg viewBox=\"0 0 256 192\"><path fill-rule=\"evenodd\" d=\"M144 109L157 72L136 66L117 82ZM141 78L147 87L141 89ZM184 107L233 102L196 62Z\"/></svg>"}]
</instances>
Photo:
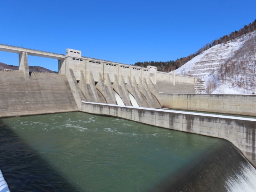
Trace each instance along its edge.
<instances>
[{"instance_id":1,"label":"clear deep blue sky above dam, including gaps under the bridge","mask_svg":"<svg viewBox=\"0 0 256 192\"><path fill-rule=\"evenodd\" d=\"M255 0L0 1L0 43L125 64L188 56L256 19ZM29 56L58 71L58 62ZM0 52L18 65L18 54Z\"/></svg>"}]
</instances>

